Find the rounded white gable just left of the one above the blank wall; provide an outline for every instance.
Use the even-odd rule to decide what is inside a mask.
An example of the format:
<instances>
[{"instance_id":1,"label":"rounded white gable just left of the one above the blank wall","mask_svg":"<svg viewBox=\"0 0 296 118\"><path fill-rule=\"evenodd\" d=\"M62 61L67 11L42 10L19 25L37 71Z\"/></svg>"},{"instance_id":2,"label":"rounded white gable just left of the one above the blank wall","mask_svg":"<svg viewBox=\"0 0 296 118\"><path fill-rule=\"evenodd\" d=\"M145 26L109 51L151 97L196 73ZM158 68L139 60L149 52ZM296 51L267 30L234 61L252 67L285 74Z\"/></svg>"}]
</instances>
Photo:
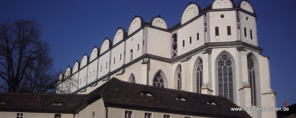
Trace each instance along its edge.
<instances>
[{"instance_id":1,"label":"rounded white gable just left of the one above the blank wall","mask_svg":"<svg viewBox=\"0 0 296 118\"><path fill-rule=\"evenodd\" d=\"M131 24L128 27L128 35L139 29L144 24L144 20L141 16L135 15L135 17L131 20Z\"/></svg>"}]
</instances>

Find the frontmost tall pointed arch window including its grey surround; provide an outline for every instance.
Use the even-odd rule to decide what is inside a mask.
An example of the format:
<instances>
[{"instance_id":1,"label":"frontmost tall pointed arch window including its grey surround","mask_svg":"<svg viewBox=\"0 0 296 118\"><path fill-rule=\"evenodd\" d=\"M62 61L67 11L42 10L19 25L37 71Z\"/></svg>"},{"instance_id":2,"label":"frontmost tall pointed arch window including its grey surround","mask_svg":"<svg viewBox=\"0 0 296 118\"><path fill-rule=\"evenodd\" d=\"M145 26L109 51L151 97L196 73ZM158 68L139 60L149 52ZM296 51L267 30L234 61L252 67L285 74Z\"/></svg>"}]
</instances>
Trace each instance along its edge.
<instances>
[{"instance_id":1,"label":"frontmost tall pointed arch window including its grey surround","mask_svg":"<svg viewBox=\"0 0 296 118\"><path fill-rule=\"evenodd\" d=\"M235 59L226 50L223 50L215 60L216 95L224 96L237 103L237 82Z\"/></svg>"}]
</instances>

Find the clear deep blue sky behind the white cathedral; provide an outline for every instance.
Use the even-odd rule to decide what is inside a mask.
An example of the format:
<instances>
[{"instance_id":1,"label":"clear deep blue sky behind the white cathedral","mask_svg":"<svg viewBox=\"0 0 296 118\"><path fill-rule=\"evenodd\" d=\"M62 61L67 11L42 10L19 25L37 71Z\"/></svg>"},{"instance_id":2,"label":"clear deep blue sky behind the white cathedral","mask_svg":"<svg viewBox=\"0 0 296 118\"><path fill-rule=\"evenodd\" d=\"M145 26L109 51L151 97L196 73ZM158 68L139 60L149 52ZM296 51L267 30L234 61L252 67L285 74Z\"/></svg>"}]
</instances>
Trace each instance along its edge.
<instances>
[{"instance_id":1,"label":"clear deep blue sky behind the white cathedral","mask_svg":"<svg viewBox=\"0 0 296 118\"><path fill-rule=\"evenodd\" d=\"M190 0L201 6L213 0ZM234 0L236 6L239 0ZM296 1L249 0L257 15L258 45L269 56L271 87L277 93L277 107L296 103ZM128 26L138 15L144 21L161 15L172 27L181 21L189 0L78 1L78 0L0 0L0 22L36 19L42 25L41 40L47 41L54 69L73 67L94 45L101 47L105 37L113 40L118 26ZM267 74L267 73L266 73ZM267 76L267 75L266 75Z\"/></svg>"}]
</instances>

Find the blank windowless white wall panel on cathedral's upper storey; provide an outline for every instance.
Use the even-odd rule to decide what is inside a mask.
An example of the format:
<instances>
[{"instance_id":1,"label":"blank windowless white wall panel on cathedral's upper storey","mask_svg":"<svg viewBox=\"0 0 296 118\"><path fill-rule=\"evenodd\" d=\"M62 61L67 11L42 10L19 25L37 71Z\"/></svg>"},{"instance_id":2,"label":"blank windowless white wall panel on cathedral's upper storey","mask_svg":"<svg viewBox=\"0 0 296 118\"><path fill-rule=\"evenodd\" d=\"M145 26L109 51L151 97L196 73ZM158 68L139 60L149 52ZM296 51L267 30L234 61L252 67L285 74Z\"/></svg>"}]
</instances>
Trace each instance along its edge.
<instances>
[{"instance_id":1,"label":"blank windowless white wall panel on cathedral's upper storey","mask_svg":"<svg viewBox=\"0 0 296 118\"><path fill-rule=\"evenodd\" d=\"M170 33L154 28L147 29L147 53L170 58Z\"/></svg>"}]
</instances>

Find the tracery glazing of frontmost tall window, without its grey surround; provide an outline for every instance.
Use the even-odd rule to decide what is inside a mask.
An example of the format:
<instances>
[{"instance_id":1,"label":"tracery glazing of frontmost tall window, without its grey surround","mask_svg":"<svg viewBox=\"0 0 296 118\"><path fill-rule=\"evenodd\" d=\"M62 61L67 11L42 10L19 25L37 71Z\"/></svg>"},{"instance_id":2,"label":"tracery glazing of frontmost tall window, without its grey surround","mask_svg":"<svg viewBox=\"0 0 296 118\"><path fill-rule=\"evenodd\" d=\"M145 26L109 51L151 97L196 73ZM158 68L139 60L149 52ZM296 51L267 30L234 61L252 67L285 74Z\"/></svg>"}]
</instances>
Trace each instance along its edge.
<instances>
[{"instance_id":1,"label":"tracery glazing of frontmost tall window, without its grey surround","mask_svg":"<svg viewBox=\"0 0 296 118\"><path fill-rule=\"evenodd\" d=\"M232 62L228 55L223 54L218 60L218 92L234 102Z\"/></svg>"}]
</instances>

